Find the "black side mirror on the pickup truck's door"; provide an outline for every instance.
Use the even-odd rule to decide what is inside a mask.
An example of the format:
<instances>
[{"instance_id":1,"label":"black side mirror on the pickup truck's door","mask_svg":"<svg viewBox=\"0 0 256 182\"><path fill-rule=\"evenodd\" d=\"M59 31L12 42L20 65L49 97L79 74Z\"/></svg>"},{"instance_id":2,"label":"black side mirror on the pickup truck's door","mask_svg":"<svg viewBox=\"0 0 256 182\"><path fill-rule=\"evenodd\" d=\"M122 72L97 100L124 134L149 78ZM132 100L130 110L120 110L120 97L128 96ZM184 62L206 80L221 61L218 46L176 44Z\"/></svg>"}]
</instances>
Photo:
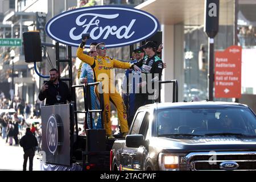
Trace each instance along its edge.
<instances>
[{"instance_id":1,"label":"black side mirror on the pickup truck's door","mask_svg":"<svg viewBox=\"0 0 256 182\"><path fill-rule=\"evenodd\" d=\"M147 142L143 135L127 135L125 138L126 146L138 148L139 146L146 146Z\"/></svg>"}]
</instances>

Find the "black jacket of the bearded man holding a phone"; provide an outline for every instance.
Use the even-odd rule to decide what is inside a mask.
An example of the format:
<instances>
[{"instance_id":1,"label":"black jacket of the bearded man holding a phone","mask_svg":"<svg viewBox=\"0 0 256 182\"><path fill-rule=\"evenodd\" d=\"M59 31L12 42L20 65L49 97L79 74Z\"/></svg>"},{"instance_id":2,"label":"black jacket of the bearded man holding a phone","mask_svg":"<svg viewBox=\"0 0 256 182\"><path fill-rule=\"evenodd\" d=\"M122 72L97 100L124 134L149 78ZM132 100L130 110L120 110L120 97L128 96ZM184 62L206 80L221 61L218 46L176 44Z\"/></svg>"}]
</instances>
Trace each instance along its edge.
<instances>
[{"instance_id":1,"label":"black jacket of the bearded man holding a phone","mask_svg":"<svg viewBox=\"0 0 256 182\"><path fill-rule=\"evenodd\" d=\"M69 92L68 85L63 82L59 81L59 85L55 85L52 82L48 81L48 89L40 90L39 93L39 100L43 101L46 99L46 105L55 105L55 104L67 104L67 100L71 102L71 93ZM61 96L61 100L57 101L57 94Z\"/></svg>"}]
</instances>

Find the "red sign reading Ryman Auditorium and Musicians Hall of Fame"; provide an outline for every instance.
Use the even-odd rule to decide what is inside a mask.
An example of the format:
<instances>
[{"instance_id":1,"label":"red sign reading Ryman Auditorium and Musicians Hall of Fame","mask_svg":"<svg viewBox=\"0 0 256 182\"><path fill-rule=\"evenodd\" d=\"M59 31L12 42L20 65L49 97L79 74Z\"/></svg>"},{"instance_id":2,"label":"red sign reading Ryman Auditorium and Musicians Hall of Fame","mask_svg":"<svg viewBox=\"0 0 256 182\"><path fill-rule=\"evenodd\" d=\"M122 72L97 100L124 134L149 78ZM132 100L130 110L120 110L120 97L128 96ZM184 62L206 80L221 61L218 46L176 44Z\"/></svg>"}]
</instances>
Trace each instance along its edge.
<instances>
[{"instance_id":1,"label":"red sign reading Ryman Auditorium and Musicians Hall of Fame","mask_svg":"<svg viewBox=\"0 0 256 182\"><path fill-rule=\"evenodd\" d=\"M242 48L230 46L223 52L215 53L215 97L241 97Z\"/></svg>"}]
</instances>

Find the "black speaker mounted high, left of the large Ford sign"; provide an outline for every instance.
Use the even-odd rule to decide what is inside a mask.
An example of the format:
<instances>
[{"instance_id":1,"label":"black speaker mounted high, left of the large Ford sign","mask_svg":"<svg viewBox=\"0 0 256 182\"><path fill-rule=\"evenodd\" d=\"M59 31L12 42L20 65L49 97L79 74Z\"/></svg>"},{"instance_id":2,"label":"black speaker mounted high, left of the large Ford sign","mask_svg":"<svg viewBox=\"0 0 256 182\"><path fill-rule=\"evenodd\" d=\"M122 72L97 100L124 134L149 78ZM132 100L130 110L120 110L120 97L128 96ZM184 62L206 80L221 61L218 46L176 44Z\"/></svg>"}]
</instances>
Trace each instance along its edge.
<instances>
[{"instance_id":1,"label":"black speaker mounted high, left of the large Ford sign","mask_svg":"<svg viewBox=\"0 0 256 182\"><path fill-rule=\"evenodd\" d=\"M26 63L42 61L42 48L39 32L24 32L23 43Z\"/></svg>"}]
</instances>

